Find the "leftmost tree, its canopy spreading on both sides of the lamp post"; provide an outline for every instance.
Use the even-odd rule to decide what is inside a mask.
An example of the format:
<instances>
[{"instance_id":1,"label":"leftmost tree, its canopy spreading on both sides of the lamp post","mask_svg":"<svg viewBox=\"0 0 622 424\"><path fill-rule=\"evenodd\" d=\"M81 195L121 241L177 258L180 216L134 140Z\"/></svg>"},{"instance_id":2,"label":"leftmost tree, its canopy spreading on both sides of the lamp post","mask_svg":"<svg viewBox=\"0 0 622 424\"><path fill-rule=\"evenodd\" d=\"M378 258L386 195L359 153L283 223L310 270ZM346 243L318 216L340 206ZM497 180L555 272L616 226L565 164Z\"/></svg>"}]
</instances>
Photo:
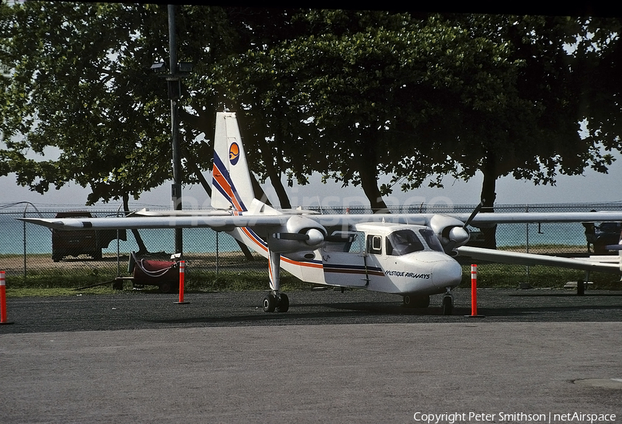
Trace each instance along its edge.
<instances>
[{"instance_id":1,"label":"leftmost tree, its canopy spreading on both sides of the lamp post","mask_svg":"<svg viewBox=\"0 0 622 424\"><path fill-rule=\"evenodd\" d=\"M90 186L87 204L138 198L169 180L169 102L164 80L149 71L168 57L167 9L46 1L2 5L0 64L10 75L3 77L0 94L0 131L7 144L0 151L1 173L17 173L19 184L39 193L70 181ZM265 39L258 29L279 16L285 15L245 8L178 10L177 28L184 35L178 57L196 64L185 79L184 150L205 158L193 161L185 182L195 182L200 168L211 168L211 145L197 137L211 137L216 110L233 103L222 92L196 87L205 78L218 79L214 64ZM262 19L270 24L260 25ZM50 146L58 158L27 156Z\"/></svg>"}]
</instances>

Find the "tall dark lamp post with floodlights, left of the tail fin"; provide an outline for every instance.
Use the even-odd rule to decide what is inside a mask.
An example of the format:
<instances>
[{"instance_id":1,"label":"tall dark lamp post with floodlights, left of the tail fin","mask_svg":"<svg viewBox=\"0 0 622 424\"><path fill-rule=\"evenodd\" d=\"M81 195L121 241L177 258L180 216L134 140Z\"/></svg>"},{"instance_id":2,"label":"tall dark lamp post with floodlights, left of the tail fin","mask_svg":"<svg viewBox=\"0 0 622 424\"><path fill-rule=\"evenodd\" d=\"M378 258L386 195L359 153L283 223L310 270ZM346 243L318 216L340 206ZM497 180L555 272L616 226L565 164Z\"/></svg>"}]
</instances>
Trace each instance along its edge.
<instances>
[{"instance_id":1,"label":"tall dark lamp post with floodlights, left of the tail fin","mask_svg":"<svg viewBox=\"0 0 622 424\"><path fill-rule=\"evenodd\" d=\"M161 75L167 80L169 99L171 100L171 145L173 149L173 184L171 185L171 199L173 209L182 209L182 168L179 144L179 99L181 97L181 79L187 77L192 69L192 64L177 61L177 37L175 28L175 5L169 4L169 67L170 73ZM151 65L151 70L156 73L167 71L167 64L158 62ZM175 229L175 251L183 254L182 229Z\"/></svg>"}]
</instances>

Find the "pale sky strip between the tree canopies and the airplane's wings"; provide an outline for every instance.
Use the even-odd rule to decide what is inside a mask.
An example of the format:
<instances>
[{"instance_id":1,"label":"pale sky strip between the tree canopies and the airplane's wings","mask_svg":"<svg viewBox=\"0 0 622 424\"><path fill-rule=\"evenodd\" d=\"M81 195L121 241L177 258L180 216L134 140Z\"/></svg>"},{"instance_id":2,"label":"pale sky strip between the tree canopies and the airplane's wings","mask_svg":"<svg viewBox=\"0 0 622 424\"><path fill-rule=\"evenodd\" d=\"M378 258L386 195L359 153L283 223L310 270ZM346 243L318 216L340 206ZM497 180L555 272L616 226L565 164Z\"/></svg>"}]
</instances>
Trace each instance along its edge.
<instances>
[{"instance_id":1,"label":"pale sky strip between the tree canopies and the airplane's wings","mask_svg":"<svg viewBox=\"0 0 622 424\"><path fill-rule=\"evenodd\" d=\"M211 182L210 173L204 173L207 181ZM597 173L587 169L584 175L572 177L559 175L556 186L534 186L529 181L514 180L513 177L502 177L497 180L496 204L563 204L588 202L622 202L622 191L619 181L622 180L622 157L610 166L607 174ZM368 206L366 197L359 187L349 186L341 188L341 184L330 182L322 184L319 175L312 175L311 184L288 187L292 206ZM396 188L393 195L384 197L387 204L393 206L408 206L424 204L462 205L477 204L480 200L482 175L475 175L469 182L444 179L444 189L424 187L403 193ZM0 177L0 205L14 202L31 202L36 206L84 206L88 189L75 184L64 186L59 190L50 189L48 193L40 195L18 186L15 175ZM273 204L278 204L276 195L270 184L264 184L264 190ZM200 185L185 186L182 191L184 209L205 209L209 207L209 197ZM110 202L106 209L120 206L120 202ZM157 189L144 193L140 200L131 200L130 209L142 207L160 207L167 209L172 206L170 182Z\"/></svg>"}]
</instances>

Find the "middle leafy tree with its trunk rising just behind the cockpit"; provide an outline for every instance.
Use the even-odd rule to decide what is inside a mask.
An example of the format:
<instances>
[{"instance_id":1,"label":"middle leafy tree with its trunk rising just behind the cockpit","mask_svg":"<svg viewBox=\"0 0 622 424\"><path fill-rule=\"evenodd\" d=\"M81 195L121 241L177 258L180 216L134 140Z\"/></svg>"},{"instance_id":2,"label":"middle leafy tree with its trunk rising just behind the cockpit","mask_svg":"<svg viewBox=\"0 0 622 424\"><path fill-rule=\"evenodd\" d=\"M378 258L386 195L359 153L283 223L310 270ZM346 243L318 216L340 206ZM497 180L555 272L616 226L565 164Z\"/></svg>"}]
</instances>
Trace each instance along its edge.
<instances>
[{"instance_id":1,"label":"middle leafy tree with its trunk rising just behind the cockpit","mask_svg":"<svg viewBox=\"0 0 622 424\"><path fill-rule=\"evenodd\" d=\"M433 38L437 29L389 12L310 10L291 21L296 30L287 38L223 68L236 75L227 93L257 123L257 138L268 140L261 150L279 162L263 157L267 174L276 175L272 166L288 169L304 183L319 171L360 184L374 210L386 209L378 175L391 170L405 139L415 139L408 130L425 107L413 93L425 84L420 53L431 46L417 45L417 37Z\"/></svg>"}]
</instances>

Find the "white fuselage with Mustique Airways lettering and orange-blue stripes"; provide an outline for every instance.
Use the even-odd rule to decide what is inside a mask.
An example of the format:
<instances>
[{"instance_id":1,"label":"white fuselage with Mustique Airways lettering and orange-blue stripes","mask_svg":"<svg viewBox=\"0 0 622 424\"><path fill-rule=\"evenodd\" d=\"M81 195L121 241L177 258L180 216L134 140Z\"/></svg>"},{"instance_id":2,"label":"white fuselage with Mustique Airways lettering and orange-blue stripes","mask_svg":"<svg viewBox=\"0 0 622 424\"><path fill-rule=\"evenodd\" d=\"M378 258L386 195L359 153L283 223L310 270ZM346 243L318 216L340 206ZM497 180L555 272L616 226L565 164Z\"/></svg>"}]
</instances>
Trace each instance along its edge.
<instances>
[{"instance_id":1,"label":"white fuselage with Mustique Airways lettering and orange-blue stripes","mask_svg":"<svg viewBox=\"0 0 622 424\"><path fill-rule=\"evenodd\" d=\"M337 233L344 240L325 242L312 259L281 255L281 267L306 282L400 295L444 293L462 278L460 264L444 253L429 227L368 222L332 231ZM229 234L268 256L265 235L249 227Z\"/></svg>"}]
</instances>

